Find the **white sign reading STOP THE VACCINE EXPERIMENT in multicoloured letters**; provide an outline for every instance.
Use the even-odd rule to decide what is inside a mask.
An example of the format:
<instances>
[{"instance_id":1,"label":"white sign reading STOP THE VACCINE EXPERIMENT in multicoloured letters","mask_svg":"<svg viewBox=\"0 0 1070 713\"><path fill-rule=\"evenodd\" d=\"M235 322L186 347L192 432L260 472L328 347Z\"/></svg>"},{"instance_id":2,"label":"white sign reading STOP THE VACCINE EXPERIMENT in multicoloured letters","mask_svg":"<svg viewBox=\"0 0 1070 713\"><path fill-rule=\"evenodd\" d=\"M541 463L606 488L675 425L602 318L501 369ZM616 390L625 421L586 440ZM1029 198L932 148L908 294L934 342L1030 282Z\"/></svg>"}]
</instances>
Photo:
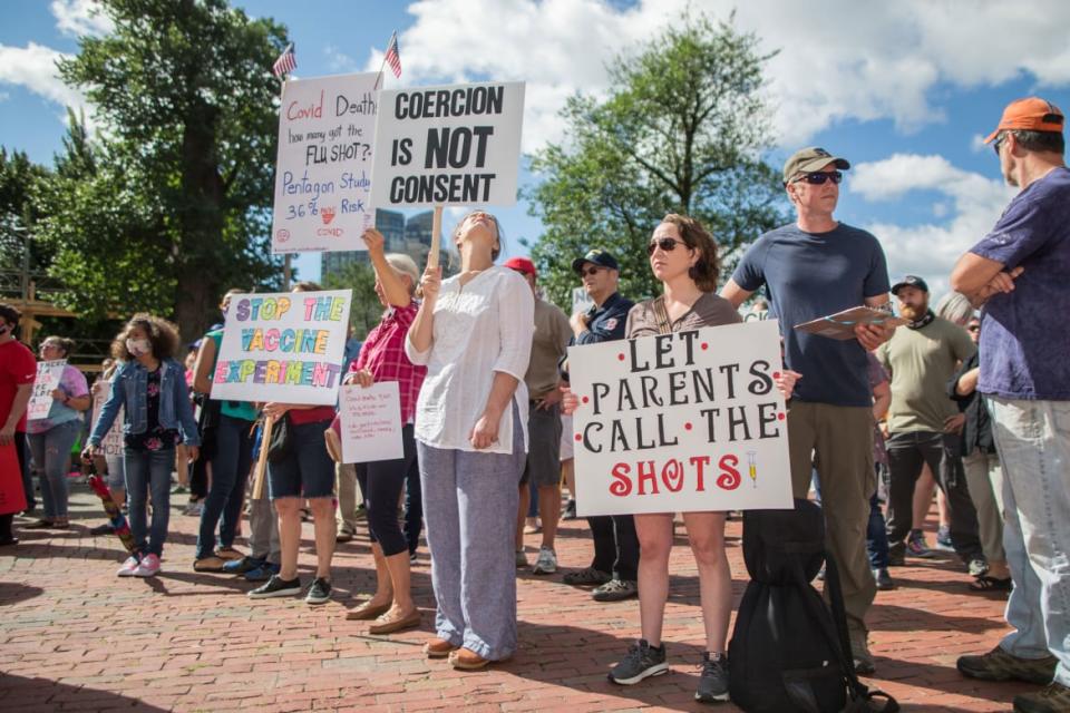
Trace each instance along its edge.
<instances>
[{"instance_id":1,"label":"white sign reading STOP THE VACCINE EXPERIMENT in multicoloured letters","mask_svg":"<svg viewBox=\"0 0 1070 713\"><path fill-rule=\"evenodd\" d=\"M233 295L212 398L333 406L352 292Z\"/></svg>"}]
</instances>

